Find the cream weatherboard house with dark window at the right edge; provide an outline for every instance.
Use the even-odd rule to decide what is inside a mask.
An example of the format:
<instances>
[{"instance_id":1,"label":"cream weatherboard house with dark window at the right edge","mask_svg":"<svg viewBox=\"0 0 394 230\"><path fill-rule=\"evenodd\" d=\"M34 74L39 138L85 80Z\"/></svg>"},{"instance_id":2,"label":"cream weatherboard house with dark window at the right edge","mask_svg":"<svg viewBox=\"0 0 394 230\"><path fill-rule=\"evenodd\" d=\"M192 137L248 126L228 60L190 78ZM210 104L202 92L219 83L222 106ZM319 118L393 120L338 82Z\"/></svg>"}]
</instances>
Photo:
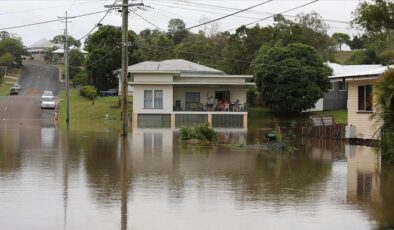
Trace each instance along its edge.
<instances>
[{"instance_id":1,"label":"cream weatherboard house with dark window at the right edge","mask_svg":"<svg viewBox=\"0 0 394 230\"><path fill-rule=\"evenodd\" d=\"M360 68L364 66L364 68ZM379 124L370 117L376 111L373 100L373 84L379 76L393 68L381 65L354 66L353 71L337 74L331 77L332 81L341 81L347 84L348 98L348 126L346 138L379 139L377 132Z\"/></svg>"}]
</instances>

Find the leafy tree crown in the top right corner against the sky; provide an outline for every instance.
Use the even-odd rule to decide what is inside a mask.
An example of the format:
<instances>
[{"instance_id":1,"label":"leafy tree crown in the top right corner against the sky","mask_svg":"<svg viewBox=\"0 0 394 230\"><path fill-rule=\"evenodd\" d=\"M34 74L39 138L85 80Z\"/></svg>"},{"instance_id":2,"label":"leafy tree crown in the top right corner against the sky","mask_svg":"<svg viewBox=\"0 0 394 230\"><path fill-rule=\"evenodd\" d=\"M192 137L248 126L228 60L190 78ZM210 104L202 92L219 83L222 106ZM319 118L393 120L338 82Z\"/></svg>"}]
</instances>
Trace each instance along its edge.
<instances>
[{"instance_id":1,"label":"leafy tree crown in the top right corner against the sky","mask_svg":"<svg viewBox=\"0 0 394 230\"><path fill-rule=\"evenodd\" d=\"M382 33L394 29L394 2L392 0L363 1L353 13L353 25L369 33Z\"/></svg>"}]
</instances>

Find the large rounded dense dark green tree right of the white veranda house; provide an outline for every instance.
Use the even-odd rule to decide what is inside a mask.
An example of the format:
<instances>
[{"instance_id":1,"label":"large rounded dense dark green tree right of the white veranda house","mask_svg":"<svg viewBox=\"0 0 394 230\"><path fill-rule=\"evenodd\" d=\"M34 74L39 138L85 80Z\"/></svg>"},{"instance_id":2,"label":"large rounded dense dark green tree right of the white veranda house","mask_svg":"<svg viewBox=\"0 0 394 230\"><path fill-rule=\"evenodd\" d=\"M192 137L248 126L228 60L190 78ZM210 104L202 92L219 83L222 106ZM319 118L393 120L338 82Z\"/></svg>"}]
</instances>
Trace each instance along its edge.
<instances>
[{"instance_id":1,"label":"large rounded dense dark green tree right of the white veranda house","mask_svg":"<svg viewBox=\"0 0 394 230\"><path fill-rule=\"evenodd\" d=\"M312 108L330 87L332 71L309 45L263 46L253 66L262 99L275 112L294 114Z\"/></svg>"}]
</instances>

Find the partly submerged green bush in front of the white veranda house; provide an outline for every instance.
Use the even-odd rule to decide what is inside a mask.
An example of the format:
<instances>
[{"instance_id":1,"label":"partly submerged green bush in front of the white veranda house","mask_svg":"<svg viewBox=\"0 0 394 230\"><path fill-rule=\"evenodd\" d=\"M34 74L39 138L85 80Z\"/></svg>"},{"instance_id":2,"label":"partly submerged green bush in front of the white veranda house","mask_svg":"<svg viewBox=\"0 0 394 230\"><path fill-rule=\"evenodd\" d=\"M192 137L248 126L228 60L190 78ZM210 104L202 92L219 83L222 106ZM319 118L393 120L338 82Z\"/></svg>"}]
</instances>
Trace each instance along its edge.
<instances>
[{"instance_id":1,"label":"partly submerged green bush in front of the white veranda house","mask_svg":"<svg viewBox=\"0 0 394 230\"><path fill-rule=\"evenodd\" d=\"M180 130L181 140L197 139L200 141L216 140L216 132L209 127L208 123L193 125L192 127L182 127Z\"/></svg>"}]
</instances>

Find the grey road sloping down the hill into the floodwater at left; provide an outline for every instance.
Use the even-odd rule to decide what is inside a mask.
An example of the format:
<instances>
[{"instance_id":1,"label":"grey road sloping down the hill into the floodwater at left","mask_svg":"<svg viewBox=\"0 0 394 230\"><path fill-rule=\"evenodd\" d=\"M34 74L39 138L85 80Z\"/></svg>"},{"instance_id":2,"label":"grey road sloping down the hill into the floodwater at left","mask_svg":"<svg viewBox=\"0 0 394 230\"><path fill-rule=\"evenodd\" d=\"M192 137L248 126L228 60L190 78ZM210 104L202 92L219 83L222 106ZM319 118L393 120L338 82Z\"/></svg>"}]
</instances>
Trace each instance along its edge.
<instances>
[{"instance_id":1,"label":"grey road sloping down the hill into the floodwater at left","mask_svg":"<svg viewBox=\"0 0 394 230\"><path fill-rule=\"evenodd\" d=\"M62 87L58 68L26 62L18 83L22 86L19 95L0 97L0 128L52 126L54 110L41 109L40 98L44 90L58 94Z\"/></svg>"}]
</instances>

